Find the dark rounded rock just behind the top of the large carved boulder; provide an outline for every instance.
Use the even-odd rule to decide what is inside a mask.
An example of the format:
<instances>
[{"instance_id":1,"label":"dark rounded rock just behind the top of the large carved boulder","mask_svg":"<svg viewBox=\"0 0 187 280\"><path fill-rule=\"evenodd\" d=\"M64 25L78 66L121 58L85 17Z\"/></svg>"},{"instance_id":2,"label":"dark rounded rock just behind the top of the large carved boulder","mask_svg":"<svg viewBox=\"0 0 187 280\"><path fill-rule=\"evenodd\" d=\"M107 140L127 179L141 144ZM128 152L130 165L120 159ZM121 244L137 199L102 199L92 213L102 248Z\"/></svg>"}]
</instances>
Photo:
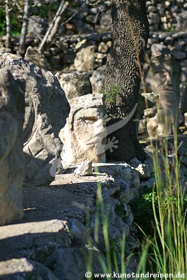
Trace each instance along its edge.
<instances>
[{"instance_id":1,"label":"dark rounded rock just behind the top of the large carved boulder","mask_svg":"<svg viewBox=\"0 0 187 280\"><path fill-rule=\"evenodd\" d=\"M27 48L25 59L31 61L36 64L38 67L44 69L45 71L50 71L50 65L46 59L46 57L40 54L36 49L29 46Z\"/></svg>"}]
</instances>

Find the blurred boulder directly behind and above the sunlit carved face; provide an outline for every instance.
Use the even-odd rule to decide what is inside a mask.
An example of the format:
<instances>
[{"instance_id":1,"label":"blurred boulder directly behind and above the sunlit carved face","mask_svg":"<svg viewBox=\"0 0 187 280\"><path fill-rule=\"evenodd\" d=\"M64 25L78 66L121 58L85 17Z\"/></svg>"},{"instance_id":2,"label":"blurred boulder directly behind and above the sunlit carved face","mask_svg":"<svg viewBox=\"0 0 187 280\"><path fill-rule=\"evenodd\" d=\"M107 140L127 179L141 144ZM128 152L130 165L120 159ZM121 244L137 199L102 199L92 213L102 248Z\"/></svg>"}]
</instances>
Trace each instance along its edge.
<instances>
[{"instance_id":1,"label":"blurred boulder directly behind and above the sunlit carved face","mask_svg":"<svg viewBox=\"0 0 187 280\"><path fill-rule=\"evenodd\" d=\"M92 84L86 74L56 74L67 99L92 93Z\"/></svg>"}]
</instances>

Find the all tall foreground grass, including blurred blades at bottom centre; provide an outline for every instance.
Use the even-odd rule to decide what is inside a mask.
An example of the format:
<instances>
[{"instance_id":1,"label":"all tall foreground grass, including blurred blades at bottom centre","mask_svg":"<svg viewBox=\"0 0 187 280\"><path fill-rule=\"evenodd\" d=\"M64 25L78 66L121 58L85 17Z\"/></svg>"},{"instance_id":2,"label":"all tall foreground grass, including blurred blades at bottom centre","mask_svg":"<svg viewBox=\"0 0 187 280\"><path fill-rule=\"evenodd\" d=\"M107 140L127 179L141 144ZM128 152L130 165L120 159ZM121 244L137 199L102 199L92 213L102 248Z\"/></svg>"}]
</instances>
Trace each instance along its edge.
<instances>
[{"instance_id":1,"label":"all tall foreground grass, including blurred blades at bottom centre","mask_svg":"<svg viewBox=\"0 0 187 280\"><path fill-rule=\"evenodd\" d=\"M166 275L162 279L168 279L167 274L176 276L179 272L180 274L185 274L187 278L187 193L180 174L176 126L173 126L173 131L175 157L169 157L167 138L163 138L159 145L157 142L156 146L151 142L154 149L153 161L156 179L156 187L153 189L151 196L154 214L154 234L150 237L141 229L145 238L141 244L139 264L136 271L137 274L142 274L142 276L147 272ZM162 158L161 164L160 155ZM98 170L95 171L98 172ZM98 183L97 187L95 240L98 239L99 219L102 219L101 224L106 252L106 258L100 256L99 259L103 272L112 273L115 271L119 274L125 274L127 262L131 257L126 258L125 256L125 233L121 244L121 263L119 264L117 251L110 244L108 233L109 217L103 203L100 183ZM137 224L137 226L139 225ZM91 263L91 260L89 263ZM141 279L144 278L142 277ZM160 277L158 276L154 279L159 280ZM170 276L169 279L174 278ZM185 279L185 277L181 279Z\"/></svg>"}]
</instances>

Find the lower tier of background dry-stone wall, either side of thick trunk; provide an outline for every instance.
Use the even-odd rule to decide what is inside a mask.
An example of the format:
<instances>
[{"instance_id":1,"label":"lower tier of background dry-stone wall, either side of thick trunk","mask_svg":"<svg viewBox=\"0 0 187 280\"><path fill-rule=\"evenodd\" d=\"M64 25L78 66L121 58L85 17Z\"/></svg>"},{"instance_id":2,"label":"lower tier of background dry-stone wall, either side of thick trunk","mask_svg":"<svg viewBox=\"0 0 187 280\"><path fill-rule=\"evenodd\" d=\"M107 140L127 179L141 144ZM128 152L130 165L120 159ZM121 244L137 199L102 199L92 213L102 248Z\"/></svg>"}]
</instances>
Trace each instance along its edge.
<instances>
[{"instance_id":1,"label":"lower tier of background dry-stone wall, either side of thick trunk","mask_svg":"<svg viewBox=\"0 0 187 280\"><path fill-rule=\"evenodd\" d=\"M60 37L46 56L56 71L92 74L93 70L105 65L111 45L112 32ZM180 109L187 112L187 32L151 32L147 53L149 57L156 53L171 54L181 63Z\"/></svg>"}]
</instances>

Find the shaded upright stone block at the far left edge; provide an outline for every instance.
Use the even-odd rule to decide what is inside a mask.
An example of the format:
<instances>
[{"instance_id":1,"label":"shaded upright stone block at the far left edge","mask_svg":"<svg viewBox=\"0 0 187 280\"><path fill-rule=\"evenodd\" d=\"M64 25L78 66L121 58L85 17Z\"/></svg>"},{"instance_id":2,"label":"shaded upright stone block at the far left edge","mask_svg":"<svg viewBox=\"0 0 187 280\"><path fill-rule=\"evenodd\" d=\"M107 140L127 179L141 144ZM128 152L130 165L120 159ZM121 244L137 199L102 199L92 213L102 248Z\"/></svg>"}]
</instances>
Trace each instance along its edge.
<instances>
[{"instance_id":1,"label":"shaded upright stone block at the far left edge","mask_svg":"<svg viewBox=\"0 0 187 280\"><path fill-rule=\"evenodd\" d=\"M23 121L24 93L0 69L0 225L23 217Z\"/></svg>"}]
</instances>

